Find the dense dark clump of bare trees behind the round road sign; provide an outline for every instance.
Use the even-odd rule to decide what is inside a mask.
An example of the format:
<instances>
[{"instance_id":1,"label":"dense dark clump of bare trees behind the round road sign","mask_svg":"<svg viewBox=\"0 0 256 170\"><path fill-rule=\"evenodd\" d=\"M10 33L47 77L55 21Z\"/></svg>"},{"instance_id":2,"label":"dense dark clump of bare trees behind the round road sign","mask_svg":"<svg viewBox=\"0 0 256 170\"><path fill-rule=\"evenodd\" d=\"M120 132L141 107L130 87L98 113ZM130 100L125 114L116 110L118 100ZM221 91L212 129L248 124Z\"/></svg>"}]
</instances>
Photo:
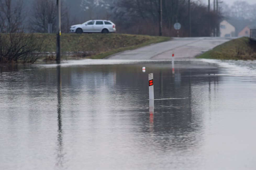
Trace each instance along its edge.
<instances>
[{"instance_id":1,"label":"dense dark clump of bare trees behind the round road sign","mask_svg":"<svg viewBox=\"0 0 256 170\"><path fill-rule=\"evenodd\" d=\"M180 22L182 27L180 36L188 36L188 1L162 0L163 2L163 35L177 36L174 23ZM112 8L116 25L120 25L123 32L135 34L158 35L159 0L119 0ZM221 14L210 12L208 8L198 2L191 2L191 30L192 36L209 36L209 20L211 29L218 25Z\"/></svg>"}]
</instances>

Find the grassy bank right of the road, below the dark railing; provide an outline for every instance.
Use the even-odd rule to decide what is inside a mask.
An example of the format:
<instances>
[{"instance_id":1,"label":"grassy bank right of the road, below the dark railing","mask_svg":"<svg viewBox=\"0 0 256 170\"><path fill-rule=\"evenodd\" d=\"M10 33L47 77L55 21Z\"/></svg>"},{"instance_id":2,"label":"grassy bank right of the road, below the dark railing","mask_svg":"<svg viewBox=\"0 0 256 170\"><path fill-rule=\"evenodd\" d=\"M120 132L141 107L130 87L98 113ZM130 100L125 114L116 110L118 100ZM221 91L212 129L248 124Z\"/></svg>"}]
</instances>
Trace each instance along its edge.
<instances>
[{"instance_id":1,"label":"grassy bank right of the road, below the dark railing","mask_svg":"<svg viewBox=\"0 0 256 170\"><path fill-rule=\"evenodd\" d=\"M248 37L230 40L205 52L197 58L225 59L225 60L255 60L256 42Z\"/></svg>"}]
</instances>

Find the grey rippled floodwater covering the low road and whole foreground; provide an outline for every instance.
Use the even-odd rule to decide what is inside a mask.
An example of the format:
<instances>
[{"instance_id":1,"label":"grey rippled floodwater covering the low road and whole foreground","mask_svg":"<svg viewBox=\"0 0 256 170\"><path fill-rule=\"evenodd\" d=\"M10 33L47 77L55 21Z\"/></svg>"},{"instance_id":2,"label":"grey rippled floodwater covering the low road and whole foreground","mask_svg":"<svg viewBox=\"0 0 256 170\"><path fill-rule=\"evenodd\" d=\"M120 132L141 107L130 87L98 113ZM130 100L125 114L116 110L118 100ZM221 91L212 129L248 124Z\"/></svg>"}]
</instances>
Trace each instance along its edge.
<instances>
[{"instance_id":1,"label":"grey rippled floodwater covering the low road and whole foreground","mask_svg":"<svg viewBox=\"0 0 256 170\"><path fill-rule=\"evenodd\" d=\"M83 60L0 71L0 169L256 169L256 62L178 60L172 71L170 61Z\"/></svg>"}]
</instances>

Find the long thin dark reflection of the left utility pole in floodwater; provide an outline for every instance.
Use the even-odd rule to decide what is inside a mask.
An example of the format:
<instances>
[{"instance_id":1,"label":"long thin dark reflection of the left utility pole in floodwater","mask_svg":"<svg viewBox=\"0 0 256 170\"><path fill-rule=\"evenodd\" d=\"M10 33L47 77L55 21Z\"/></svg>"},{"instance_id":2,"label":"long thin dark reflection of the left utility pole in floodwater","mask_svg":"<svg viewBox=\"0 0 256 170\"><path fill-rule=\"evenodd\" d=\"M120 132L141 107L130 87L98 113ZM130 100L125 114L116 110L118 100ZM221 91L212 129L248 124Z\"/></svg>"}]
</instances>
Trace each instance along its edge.
<instances>
[{"instance_id":1,"label":"long thin dark reflection of the left utility pole in floodwater","mask_svg":"<svg viewBox=\"0 0 256 170\"><path fill-rule=\"evenodd\" d=\"M60 65L57 66L57 89L58 89L58 104L57 104L57 113L58 113L58 149L57 149L57 163L56 165L60 168L63 167L63 132L62 132L62 119L61 119L61 71Z\"/></svg>"}]
</instances>

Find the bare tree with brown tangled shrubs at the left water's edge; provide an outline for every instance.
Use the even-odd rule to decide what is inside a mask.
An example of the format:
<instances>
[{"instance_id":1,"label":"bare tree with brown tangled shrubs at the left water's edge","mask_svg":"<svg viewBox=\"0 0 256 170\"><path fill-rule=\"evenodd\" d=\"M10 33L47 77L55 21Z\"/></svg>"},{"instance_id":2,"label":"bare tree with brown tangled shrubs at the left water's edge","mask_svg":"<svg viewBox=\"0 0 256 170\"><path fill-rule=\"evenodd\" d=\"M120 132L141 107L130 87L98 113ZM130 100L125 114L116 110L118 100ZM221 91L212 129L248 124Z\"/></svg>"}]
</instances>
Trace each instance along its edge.
<instances>
[{"instance_id":1,"label":"bare tree with brown tangled shrubs at the left water's edge","mask_svg":"<svg viewBox=\"0 0 256 170\"><path fill-rule=\"evenodd\" d=\"M0 63L34 63L43 42L23 29L23 3L0 0Z\"/></svg>"}]
</instances>

